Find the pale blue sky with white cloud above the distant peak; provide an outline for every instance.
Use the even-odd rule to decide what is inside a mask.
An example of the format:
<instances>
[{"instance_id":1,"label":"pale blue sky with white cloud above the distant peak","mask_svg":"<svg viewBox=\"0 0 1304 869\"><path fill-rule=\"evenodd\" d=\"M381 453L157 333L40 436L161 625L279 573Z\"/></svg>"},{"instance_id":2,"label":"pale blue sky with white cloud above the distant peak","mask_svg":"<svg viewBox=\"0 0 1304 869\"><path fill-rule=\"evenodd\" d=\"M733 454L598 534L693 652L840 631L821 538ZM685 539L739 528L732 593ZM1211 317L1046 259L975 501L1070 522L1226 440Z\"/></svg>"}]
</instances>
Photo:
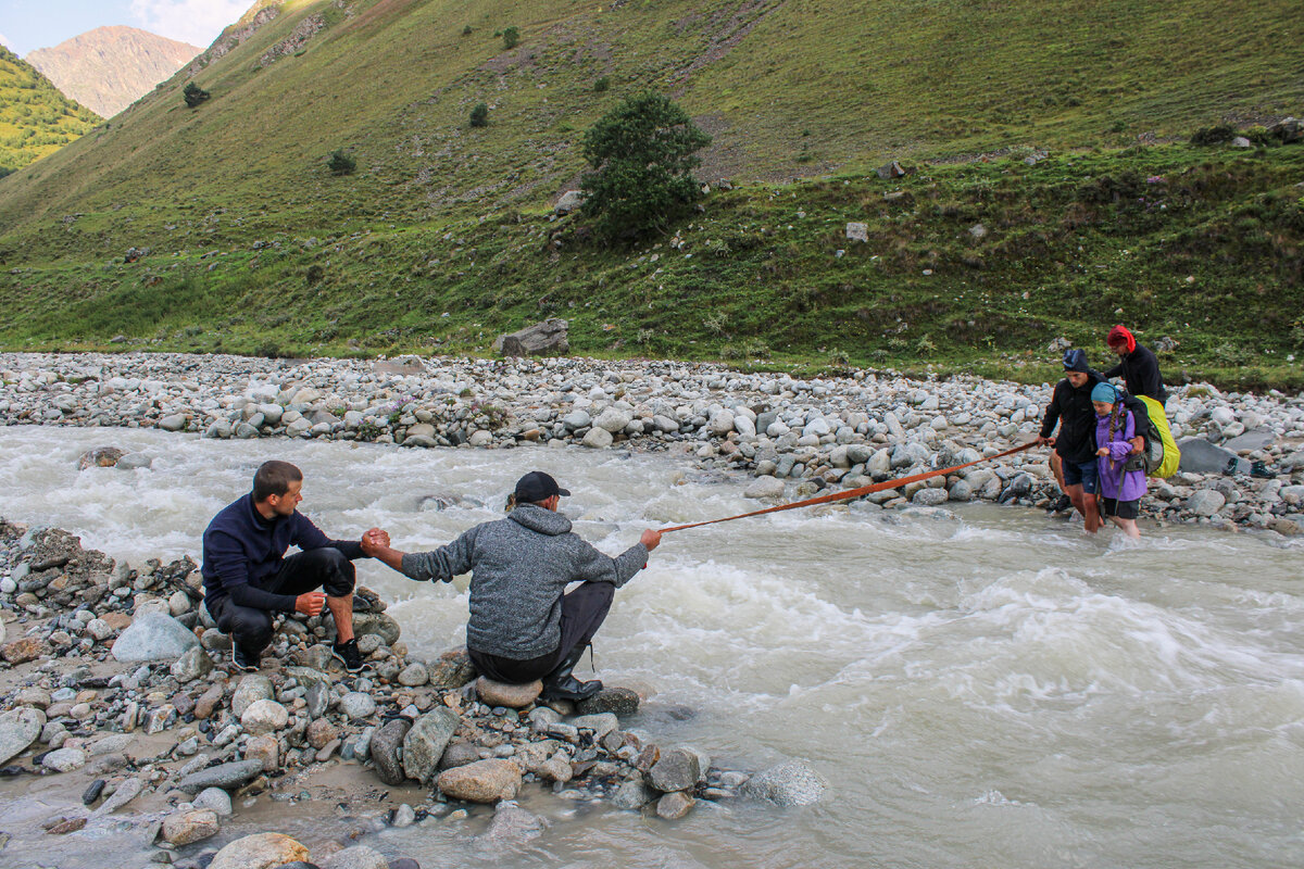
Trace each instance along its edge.
<instances>
[{"instance_id":1,"label":"pale blue sky with white cloud above the distant peak","mask_svg":"<svg viewBox=\"0 0 1304 869\"><path fill-rule=\"evenodd\" d=\"M108 25L207 48L254 0L0 0L0 43L20 57Z\"/></svg>"}]
</instances>

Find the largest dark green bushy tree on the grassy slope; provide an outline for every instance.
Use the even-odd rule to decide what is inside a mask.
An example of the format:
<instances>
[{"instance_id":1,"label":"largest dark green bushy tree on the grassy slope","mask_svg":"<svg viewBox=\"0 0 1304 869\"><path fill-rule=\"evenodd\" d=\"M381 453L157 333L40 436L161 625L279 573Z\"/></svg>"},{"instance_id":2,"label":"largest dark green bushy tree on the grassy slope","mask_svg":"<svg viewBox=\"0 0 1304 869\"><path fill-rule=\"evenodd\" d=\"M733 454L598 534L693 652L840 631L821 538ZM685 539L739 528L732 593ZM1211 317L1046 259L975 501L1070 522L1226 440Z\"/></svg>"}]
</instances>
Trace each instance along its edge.
<instances>
[{"instance_id":1,"label":"largest dark green bushy tree on the grassy slope","mask_svg":"<svg viewBox=\"0 0 1304 869\"><path fill-rule=\"evenodd\" d=\"M599 119L583 142L593 171L580 181L595 232L609 242L664 228L702 195L691 172L707 145L711 137L661 94L630 96Z\"/></svg>"}]
</instances>

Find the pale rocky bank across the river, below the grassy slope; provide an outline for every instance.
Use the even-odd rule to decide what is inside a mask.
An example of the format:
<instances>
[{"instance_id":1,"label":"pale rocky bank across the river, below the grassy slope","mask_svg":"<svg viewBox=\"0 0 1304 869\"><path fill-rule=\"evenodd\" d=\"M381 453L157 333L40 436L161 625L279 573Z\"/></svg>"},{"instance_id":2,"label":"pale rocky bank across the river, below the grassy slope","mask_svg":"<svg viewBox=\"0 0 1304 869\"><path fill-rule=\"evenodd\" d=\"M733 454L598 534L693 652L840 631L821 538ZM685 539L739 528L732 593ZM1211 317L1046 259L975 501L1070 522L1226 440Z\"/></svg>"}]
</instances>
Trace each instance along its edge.
<instances>
[{"instance_id":1,"label":"pale rocky bank across the river, below the grassy slope","mask_svg":"<svg viewBox=\"0 0 1304 869\"><path fill-rule=\"evenodd\" d=\"M522 443L662 449L756 481L767 500L947 468L1035 436L1048 386L854 371L798 379L716 365L585 358L283 361L184 354L0 354L5 425L156 426L206 438L404 447ZM1146 516L1304 530L1304 400L1197 384L1168 405L1181 470ZM104 464L117 456L102 459ZM119 466L138 466L129 456ZM1257 463L1257 465L1256 465ZM1256 473L1252 474L1251 472ZM1045 507L1045 451L871 495L865 508L974 499Z\"/></svg>"}]
</instances>

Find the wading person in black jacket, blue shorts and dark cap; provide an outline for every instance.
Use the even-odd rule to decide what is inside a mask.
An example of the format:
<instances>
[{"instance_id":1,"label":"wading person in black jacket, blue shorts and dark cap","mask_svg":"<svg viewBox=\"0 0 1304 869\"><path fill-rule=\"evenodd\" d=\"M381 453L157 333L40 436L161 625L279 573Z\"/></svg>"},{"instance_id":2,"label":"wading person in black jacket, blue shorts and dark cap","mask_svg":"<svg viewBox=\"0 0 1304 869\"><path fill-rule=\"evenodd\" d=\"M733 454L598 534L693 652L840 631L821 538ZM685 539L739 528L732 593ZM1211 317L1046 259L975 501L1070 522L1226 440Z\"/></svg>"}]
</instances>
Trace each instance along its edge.
<instances>
[{"instance_id":1,"label":"wading person in black jacket, blue shorts and dark cap","mask_svg":"<svg viewBox=\"0 0 1304 869\"><path fill-rule=\"evenodd\" d=\"M1055 384L1037 439L1055 447L1051 470L1064 496L1082 513L1086 530L1091 533L1101 526L1101 511L1095 503L1095 409L1091 405L1091 390L1101 382L1101 375L1086 363L1086 353L1067 350L1064 379ZM1056 423L1059 434L1052 438ZM1052 509L1059 509L1059 506Z\"/></svg>"}]
</instances>

